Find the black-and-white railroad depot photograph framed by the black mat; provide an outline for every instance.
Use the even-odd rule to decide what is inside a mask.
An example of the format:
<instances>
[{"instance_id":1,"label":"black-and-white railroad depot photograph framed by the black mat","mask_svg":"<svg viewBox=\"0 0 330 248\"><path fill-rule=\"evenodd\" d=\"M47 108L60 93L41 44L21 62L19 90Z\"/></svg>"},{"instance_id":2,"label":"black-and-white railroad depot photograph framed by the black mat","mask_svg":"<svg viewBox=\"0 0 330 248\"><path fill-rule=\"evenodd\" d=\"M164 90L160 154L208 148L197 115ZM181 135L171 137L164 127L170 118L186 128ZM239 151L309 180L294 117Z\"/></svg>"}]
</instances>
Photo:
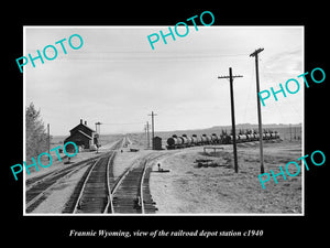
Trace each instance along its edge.
<instances>
[{"instance_id":1,"label":"black-and-white railroad depot photograph framed by the black mat","mask_svg":"<svg viewBox=\"0 0 330 248\"><path fill-rule=\"evenodd\" d=\"M24 215L304 214L304 26L24 26Z\"/></svg>"}]
</instances>

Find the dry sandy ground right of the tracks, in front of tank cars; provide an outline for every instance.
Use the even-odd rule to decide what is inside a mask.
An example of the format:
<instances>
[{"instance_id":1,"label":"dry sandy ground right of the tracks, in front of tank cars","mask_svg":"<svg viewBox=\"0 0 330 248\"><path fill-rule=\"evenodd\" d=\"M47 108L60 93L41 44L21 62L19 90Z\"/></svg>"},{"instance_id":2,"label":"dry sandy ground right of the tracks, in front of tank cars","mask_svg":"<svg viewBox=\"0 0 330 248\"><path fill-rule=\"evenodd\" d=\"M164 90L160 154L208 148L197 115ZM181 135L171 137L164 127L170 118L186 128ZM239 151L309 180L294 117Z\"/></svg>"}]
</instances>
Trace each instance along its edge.
<instances>
[{"instance_id":1,"label":"dry sandy ground right of the tracks, in front of tank cars","mask_svg":"<svg viewBox=\"0 0 330 248\"><path fill-rule=\"evenodd\" d=\"M169 173L153 172L151 193L157 214L299 214L301 173L278 184L273 179L263 190L258 180L258 143L238 147L239 173L233 170L232 145L217 157L205 155L202 148L183 149L158 162ZM265 172L301 157L300 143L265 143ZM198 168L196 159L213 159L221 166ZM156 170L156 168L154 168ZM294 173L294 172L292 172Z\"/></svg>"}]
</instances>

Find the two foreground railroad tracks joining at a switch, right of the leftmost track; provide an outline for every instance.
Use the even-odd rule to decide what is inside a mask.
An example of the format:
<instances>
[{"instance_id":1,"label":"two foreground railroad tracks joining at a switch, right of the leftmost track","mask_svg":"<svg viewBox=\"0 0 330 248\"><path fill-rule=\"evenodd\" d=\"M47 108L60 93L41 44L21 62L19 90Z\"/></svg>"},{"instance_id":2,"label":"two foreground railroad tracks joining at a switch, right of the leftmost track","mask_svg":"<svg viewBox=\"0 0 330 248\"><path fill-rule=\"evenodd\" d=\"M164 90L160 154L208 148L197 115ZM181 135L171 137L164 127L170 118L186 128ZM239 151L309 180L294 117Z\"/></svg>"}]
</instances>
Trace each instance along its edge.
<instances>
[{"instance_id":1,"label":"two foreground railroad tracks joining at a switch, right of the leftmost track","mask_svg":"<svg viewBox=\"0 0 330 248\"><path fill-rule=\"evenodd\" d=\"M156 157L145 157L128 168L119 177L113 176L117 151L100 158L86 172L64 213L74 214L154 214L157 208L150 192L148 166Z\"/></svg>"}]
</instances>

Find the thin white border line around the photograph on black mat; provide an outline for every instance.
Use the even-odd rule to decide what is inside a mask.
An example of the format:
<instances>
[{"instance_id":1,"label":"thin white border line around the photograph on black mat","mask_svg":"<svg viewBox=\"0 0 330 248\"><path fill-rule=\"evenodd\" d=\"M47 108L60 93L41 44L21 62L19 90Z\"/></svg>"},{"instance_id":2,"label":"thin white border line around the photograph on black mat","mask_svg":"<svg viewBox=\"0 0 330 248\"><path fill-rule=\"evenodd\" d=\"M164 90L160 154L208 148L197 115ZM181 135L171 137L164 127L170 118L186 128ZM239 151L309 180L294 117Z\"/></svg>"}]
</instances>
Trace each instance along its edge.
<instances>
[{"instance_id":1,"label":"thin white border line around the photograph on black mat","mask_svg":"<svg viewBox=\"0 0 330 248\"><path fill-rule=\"evenodd\" d=\"M130 25L125 25L125 26L118 26L118 25L107 25L107 26L99 26L99 25L87 25L87 26L63 26L63 25L24 25L23 26L23 55L26 54L26 46L25 46L25 34L26 34L26 29L28 28L33 28L33 29L158 29L158 28L168 28L168 26L161 26L161 25L142 25L142 26L130 26ZM208 29L209 26L198 26L199 29ZM277 29L277 28L287 28L287 29L297 29L300 28L302 29L302 72L305 72L305 25L249 25L249 26L244 26L244 25L213 25L212 29L215 28L220 28L220 29L255 29L255 28L268 28L268 29ZM25 108L26 108L26 87L25 87L25 72L23 73L23 161L25 160ZM305 155L305 87L302 87L302 120L301 120L301 125L302 125L302 140L301 140L301 157ZM232 214L228 214L228 213L223 213L223 214L37 214L37 213L31 213L31 214L26 214L26 207L25 207L25 171L23 173L23 216L70 216L70 217L75 217L75 216L105 216L105 217L109 217L109 216L141 216L141 217L145 217L145 216L305 216L305 166L301 165L301 168L304 168L302 173L301 173L301 213L297 213L297 214L253 214L253 213L232 213Z\"/></svg>"}]
</instances>

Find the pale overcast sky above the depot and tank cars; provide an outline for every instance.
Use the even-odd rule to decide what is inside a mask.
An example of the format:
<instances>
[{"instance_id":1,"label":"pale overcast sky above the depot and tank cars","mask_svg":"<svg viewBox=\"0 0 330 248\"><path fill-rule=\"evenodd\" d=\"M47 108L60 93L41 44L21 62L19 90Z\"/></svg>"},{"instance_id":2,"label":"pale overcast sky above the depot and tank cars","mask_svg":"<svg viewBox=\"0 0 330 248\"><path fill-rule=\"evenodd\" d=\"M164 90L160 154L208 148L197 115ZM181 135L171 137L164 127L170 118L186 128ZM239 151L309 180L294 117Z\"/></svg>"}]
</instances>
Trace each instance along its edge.
<instances>
[{"instance_id":1,"label":"pale overcast sky above the depot and tank cars","mask_svg":"<svg viewBox=\"0 0 330 248\"><path fill-rule=\"evenodd\" d=\"M158 131L209 128L231 123L229 80L234 75L237 123L257 123L255 63L249 55L258 47L261 90L304 73L301 26L189 26L185 37L168 36L151 48L147 35L168 26L25 26L24 55L36 56L46 45L79 34L84 45L64 42L57 58L24 67L25 104L41 109L52 134L87 120L102 133L143 131L155 111ZM182 30L184 33L184 30ZM74 40L73 40L74 41ZM51 56L51 52L48 52ZM297 78L298 79L298 78ZM301 78L298 79L301 83ZM302 84L300 84L302 86ZM304 87L262 107L264 123L302 122Z\"/></svg>"}]
</instances>

